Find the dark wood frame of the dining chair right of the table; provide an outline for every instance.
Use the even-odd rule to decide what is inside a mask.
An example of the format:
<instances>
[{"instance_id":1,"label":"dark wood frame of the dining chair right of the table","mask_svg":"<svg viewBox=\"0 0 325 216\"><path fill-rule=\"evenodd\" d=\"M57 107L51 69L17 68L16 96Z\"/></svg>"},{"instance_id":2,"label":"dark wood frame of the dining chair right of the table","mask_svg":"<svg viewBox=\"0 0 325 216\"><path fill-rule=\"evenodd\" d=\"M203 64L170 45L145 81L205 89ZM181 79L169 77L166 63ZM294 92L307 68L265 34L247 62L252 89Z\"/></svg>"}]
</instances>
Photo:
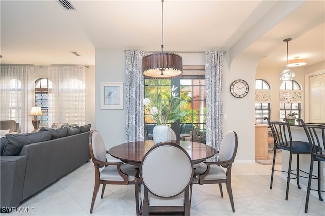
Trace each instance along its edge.
<instances>
[{"instance_id":1,"label":"dark wood frame of the dining chair right of the table","mask_svg":"<svg viewBox=\"0 0 325 216\"><path fill-rule=\"evenodd\" d=\"M235 149L234 149L234 153L233 156L230 160L226 160L226 161L220 161L220 162L204 162L207 165L207 170L202 173L201 175L198 176L198 183L200 185L203 184L219 184L219 188L220 188L220 193L221 193L221 197L223 198L223 190L222 190L222 183L225 183L226 188L227 188L227 192L228 192L228 196L229 196L229 200L230 200L230 205L232 206L232 211L235 212L235 205L234 205L234 198L233 198L233 191L232 191L232 185L231 185L231 173L232 173L232 164L235 161L235 156L237 153L237 148L238 148L238 136L237 133L235 131L233 131L235 134ZM219 154L219 151L217 151L216 154ZM227 168L226 170L226 179L216 179L216 180L205 180L205 176L207 176L209 174L210 171L210 166L212 164L216 164L218 166L222 166L224 168Z\"/></svg>"}]
</instances>

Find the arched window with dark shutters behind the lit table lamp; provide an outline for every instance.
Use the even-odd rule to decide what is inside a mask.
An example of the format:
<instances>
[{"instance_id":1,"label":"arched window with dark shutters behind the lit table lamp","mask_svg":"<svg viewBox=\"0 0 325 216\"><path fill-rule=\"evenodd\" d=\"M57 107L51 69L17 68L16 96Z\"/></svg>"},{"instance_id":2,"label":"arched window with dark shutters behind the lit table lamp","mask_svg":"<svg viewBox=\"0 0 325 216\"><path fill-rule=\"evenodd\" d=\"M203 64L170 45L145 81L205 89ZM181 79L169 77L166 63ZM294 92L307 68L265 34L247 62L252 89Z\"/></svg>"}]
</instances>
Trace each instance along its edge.
<instances>
[{"instance_id":1,"label":"arched window with dark shutters behind the lit table lamp","mask_svg":"<svg viewBox=\"0 0 325 216\"><path fill-rule=\"evenodd\" d=\"M47 78L40 78L35 81L35 105L40 106L42 116L40 127L49 127L49 103L52 101L52 82Z\"/></svg>"}]
</instances>

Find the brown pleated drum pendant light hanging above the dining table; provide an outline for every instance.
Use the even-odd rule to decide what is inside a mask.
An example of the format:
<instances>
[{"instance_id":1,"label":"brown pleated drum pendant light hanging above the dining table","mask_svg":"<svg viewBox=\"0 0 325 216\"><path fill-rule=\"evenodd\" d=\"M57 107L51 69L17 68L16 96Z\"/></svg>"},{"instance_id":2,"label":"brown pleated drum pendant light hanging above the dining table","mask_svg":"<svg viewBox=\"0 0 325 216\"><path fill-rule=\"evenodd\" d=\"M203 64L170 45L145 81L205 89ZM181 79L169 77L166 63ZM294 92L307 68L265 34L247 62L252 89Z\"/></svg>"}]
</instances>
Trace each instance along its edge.
<instances>
[{"instance_id":1,"label":"brown pleated drum pendant light hanging above the dining table","mask_svg":"<svg viewBox=\"0 0 325 216\"><path fill-rule=\"evenodd\" d=\"M175 53L164 53L164 0L161 0L161 53L152 53L142 58L142 74L153 79L170 79L183 73L183 60Z\"/></svg>"}]
</instances>

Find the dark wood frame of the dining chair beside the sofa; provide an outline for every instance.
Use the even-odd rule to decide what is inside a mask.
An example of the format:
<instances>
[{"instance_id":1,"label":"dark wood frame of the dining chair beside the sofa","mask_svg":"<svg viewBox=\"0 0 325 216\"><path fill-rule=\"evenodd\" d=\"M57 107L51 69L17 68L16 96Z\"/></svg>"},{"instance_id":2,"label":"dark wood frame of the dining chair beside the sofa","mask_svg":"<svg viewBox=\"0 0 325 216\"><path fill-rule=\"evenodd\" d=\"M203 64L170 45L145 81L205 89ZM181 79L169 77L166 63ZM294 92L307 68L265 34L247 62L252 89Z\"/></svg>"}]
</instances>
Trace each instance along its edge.
<instances>
[{"instance_id":1,"label":"dark wood frame of the dining chair beside the sofa","mask_svg":"<svg viewBox=\"0 0 325 216\"><path fill-rule=\"evenodd\" d=\"M95 204L95 200L96 200L96 196L98 194L98 190L100 188L100 184L103 184L103 187L102 187L102 193L101 193L101 199L103 198L103 195L104 195L104 191L105 191L105 186L106 184L110 184L110 185L129 185L129 184L135 184L135 181L129 181L128 180L128 175L123 173L121 171L121 165L123 165L124 163L123 162L116 162L116 163L112 163L112 162L107 162L106 161L100 161L98 159L96 159L94 157L94 154L93 154L93 149L92 149L92 136L93 136L93 133L94 132L98 132L98 131L90 131L90 134L89 134L89 150L90 150L90 156L91 156L91 160L92 162L94 163L94 166L95 166L95 186L94 186L94 189L93 189L93 195L92 195L92 201L91 201L91 207L90 207L90 213L92 213L92 210L93 210L93 206ZM108 154L108 151L106 150L106 154ZM107 166L116 166L116 169L118 171L118 173L121 175L121 177L123 178L123 181L108 181L108 180L101 180L100 179L100 169L101 167L107 167ZM139 169L136 169L137 170L137 176L139 176Z\"/></svg>"}]
</instances>

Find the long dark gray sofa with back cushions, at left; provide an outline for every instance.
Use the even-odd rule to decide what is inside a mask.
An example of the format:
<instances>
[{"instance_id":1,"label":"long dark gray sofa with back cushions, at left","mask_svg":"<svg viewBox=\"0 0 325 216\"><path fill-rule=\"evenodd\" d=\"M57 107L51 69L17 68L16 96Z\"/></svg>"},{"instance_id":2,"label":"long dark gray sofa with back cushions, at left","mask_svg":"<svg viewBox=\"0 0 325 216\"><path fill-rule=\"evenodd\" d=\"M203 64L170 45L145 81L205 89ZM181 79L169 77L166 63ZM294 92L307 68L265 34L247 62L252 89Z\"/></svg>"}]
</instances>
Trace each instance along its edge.
<instances>
[{"instance_id":1,"label":"long dark gray sofa with back cushions, at left","mask_svg":"<svg viewBox=\"0 0 325 216\"><path fill-rule=\"evenodd\" d=\"M1 210L39 192L90 160L90 125L1 138Z\"/></svg>"}]
</instances>

